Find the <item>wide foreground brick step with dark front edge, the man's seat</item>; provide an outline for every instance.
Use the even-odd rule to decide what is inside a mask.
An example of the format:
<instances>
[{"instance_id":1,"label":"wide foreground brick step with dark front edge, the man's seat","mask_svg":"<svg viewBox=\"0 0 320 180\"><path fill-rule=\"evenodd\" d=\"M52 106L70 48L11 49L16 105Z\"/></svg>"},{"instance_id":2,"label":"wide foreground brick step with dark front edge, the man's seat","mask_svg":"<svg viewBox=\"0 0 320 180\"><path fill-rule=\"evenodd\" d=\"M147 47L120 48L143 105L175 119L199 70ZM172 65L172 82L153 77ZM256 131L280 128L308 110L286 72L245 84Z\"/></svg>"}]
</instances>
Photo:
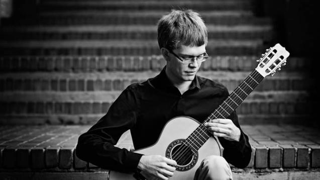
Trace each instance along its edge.
<instances>
[{"instance_id":1,"label":"wide foreground brick step with dark front edge, the man's seat","mask_svg":"<svg viewBox=\"0 0 320 180\"><path fill-rule=\"evenodd\" d=\"M108 169L101 169L82 161L75 153L77 138L89 127L88 125L3 126L5 134L0 136L0 152L3 158L0 177L63 179L76 176L76 179L84 177L105 179ZM259 179L265 177L264 179L278 180L284 176L288 176L285 179L289 179L289 176L299 177L299 175L303 179L316 178L315 174L311 174L320 167L320 139L315 128L285 124L242 125L242 129L249 137L253 152L247 168L232 167L235 178L255 179L248 175L249 173L254 173ZM133 148L129 131L121 136L116 146ZM303 170L305 174L300 171L300 174L293 174L297 169ZM66 171L68 173L63 173ZM271 174L270 172L273 174L279 171L285 172L280 178L266 177L266 174ZM30 172L33 174L27 175ZM81 174L74 174L80 172ZM98 172L103 174L99 175ZM61 176L62 174L66 176Z\"/></svg>"}]
</instances>

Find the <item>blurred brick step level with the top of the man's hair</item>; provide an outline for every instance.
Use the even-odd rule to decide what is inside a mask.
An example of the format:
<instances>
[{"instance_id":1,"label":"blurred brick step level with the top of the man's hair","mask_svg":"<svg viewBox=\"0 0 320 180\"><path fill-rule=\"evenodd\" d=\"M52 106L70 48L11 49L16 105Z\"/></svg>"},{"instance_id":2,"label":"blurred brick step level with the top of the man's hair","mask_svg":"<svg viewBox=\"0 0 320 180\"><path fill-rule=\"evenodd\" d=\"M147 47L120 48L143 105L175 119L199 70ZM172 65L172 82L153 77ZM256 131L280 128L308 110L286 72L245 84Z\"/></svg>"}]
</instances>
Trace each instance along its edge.
<instances>
[{"instance_id":1,"label":"blurred brick step level with the top of the man's hair","mask_svg":"<svg viewBox=\"0 0 320 180\"><path fill-rule=\"evenodd\" d=\"M76 11L41 13L40 17L3 20L4 25L155 25L165 15L162 11L118 12ZM215 25L270 25L269 18L256 18L249 11L201 12L205 23Z\"/></svg>"}]
</instances>

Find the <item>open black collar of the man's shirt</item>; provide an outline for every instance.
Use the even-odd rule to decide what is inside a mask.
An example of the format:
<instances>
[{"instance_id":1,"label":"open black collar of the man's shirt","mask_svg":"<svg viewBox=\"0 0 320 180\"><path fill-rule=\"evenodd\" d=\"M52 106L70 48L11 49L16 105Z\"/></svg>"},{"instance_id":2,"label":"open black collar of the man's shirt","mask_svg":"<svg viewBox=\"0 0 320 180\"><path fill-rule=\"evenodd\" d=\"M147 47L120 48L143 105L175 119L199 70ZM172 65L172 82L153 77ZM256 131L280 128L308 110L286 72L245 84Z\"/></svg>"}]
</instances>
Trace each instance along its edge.
<instances>
[{"instance_id":1,"label":"open black collar of the man's shirt","mask_svg":"<svg viewBox=\"0 0 320 180\"><path fill-rule=\"evenodd\" d=\"M156 88L163 89L168 87L175 87L170 81L170 79L168 78L165 70L166 70L166 66L163 67L160 74L158 74L156 77L150 80L150 83ZM194 88L200 89L200 83L197 75L195 75L189 87L189 89L194 89Z\"/></svg>"}]
</instances>

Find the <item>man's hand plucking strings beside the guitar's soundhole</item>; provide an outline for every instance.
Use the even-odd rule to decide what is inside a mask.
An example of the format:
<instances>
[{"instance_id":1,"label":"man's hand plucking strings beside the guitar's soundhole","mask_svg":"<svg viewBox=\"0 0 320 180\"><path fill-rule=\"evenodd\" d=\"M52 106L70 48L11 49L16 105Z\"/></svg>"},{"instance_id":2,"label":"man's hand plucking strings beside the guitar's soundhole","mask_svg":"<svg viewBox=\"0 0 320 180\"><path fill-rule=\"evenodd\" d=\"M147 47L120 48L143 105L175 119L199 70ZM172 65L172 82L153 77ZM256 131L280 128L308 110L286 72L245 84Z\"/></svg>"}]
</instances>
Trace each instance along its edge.
<instances>
[{"instance_id":1,"label":"man's hand plucking strings beside the guitar's soundhole","mask_svg":"<svg viewBox=\"0 0 320 180\"><path fill-rule=\"evenodd\" d=\"M138 168L147 179L169 179L175 171L177 163L161 155L143 155Z\"/></svg>"}]
</instances>

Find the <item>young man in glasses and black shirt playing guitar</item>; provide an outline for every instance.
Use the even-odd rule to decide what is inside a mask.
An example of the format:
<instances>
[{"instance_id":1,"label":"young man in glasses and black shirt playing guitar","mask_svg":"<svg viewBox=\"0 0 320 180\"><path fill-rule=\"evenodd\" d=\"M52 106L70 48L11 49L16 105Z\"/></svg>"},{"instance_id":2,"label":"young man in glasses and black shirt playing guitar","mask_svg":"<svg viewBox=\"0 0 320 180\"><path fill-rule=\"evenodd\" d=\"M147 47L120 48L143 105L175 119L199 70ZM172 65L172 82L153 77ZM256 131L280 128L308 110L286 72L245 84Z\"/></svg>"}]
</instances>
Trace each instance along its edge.
<instances>
[{"instance_id":1,"label":"young man in glasses and black shirt playing guitar","mask_svg":"<svg viewBox=\"0 0 320 180\"><path fill-rule=\"evenodd\" d=\"M158 43L166 66L156 77L129 85L108 113L79 137L79 158L102 168L129 172L140 169L150 179L168 179L175 171L174 160L117 148L114 145L120 136L130 129L135 149L153 145L170 119L189 116L202 123L228 97L225 86L196 75L208 57L207 29L197 13L173 10L162 17ZM236 113L228 118L205 124L212 135L219 137L224 157L205 158L194 179L232 179L228 162L237 167L248 165L248 137Z\"/></svg>"}]
</instances>

